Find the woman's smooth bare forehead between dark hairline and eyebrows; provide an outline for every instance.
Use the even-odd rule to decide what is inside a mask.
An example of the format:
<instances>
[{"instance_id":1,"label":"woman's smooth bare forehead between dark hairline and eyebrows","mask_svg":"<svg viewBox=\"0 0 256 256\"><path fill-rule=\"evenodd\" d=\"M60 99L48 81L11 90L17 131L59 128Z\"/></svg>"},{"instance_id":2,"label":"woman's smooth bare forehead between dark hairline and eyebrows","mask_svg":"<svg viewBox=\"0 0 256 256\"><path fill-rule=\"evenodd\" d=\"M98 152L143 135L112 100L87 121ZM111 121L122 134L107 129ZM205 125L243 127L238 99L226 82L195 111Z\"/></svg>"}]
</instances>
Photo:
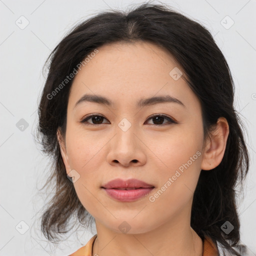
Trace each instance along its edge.
<instances>
[{"instance_id":1,"label":"woman's smooth bare forehead between dark hairline and eyebrows","mask_svg":"<svg viewBox=\"0 0 256 256\"><path fill-rule=\"evenodd\" d=\"M173 78L176 70L182 70L178 62L153 43L105 44L75 75L68 105L74 107L86 93L106 96L113 104L135 104L142 97L160 94L178 98L184 104L189 98L196 100L182 76Z\"/></svg>"}]
</instances>

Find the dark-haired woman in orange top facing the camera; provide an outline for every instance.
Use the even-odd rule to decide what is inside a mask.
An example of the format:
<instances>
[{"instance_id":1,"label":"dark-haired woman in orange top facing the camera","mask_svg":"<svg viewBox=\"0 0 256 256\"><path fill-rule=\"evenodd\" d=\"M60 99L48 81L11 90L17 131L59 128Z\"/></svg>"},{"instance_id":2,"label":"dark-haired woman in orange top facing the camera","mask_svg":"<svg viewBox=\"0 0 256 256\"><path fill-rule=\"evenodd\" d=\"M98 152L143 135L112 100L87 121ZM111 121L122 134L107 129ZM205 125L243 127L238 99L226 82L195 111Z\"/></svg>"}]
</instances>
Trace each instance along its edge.
<instances>
[{"instance_id":1,"label":"dark-haired woman in orange top facing the camera","mask_svg":"<svg viewBox=\"0 0 256 256\"><path fill-rule=\"evenodd\" d=\"M246 255L234 186L249 158L233 95L209 31L166 6L74 27L38 109L56 186L43 234L55 241L74 216L97 233L71 255Z\"/></svg>"}]
</instances>

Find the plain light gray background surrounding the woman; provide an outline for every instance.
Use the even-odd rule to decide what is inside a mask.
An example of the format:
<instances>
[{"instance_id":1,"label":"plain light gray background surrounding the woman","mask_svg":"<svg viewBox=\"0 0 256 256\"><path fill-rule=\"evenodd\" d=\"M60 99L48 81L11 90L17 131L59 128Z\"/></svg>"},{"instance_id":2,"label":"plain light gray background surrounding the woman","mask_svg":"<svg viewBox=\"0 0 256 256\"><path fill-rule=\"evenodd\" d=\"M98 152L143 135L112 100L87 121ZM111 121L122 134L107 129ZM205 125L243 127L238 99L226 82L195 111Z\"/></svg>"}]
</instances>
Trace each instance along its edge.
<instances>
[{"instance_id":1,"label":"plain light gray background surrounding the woman","mask_svg":"<svg viewBox=\"0 0 256 256\"><path fill-rule=\"evenodd\" d=\"M0 0L0 255L67 255L92 236L89 231L80 229L81 243L74 234L68 233L66 237L70 236L54 248L38 229L36 218L46 199L37 187L48 175L47 159L33 139L38 98L45 81L42 66L64 34L81 19L104 9L125 9L127 5L141 2ZM244 200L238 204L241 241L256 255L256 1L162 2L204 24L214 35L231 69L235 107L248 131L246 142L251 158ZM22 15L25 18L20 17ZM29 24L23 28L26 20ZM234 24L229 27L232 20ZM23 131L16 126L21 118L28 123ZM24 234L20 232L25 231L26 224L20 221L28 225Z\"/></svg>"}]
</instances>

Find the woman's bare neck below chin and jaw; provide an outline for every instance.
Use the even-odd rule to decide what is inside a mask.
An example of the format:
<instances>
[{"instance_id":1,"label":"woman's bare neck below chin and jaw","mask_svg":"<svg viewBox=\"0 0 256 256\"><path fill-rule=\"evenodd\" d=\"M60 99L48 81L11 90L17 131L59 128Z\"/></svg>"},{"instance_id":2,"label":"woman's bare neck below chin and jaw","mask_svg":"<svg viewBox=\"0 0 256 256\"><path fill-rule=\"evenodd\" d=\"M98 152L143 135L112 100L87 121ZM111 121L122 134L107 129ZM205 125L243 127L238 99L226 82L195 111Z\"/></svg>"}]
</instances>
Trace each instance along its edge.
<instances>
[{"instance_id":1,"label":"woman's bare neck below chin and jaw","mask_svg":"<svg viewBox=\"0 0 256 256\"><path fill-rule=\"evenodd\" d=\"M176 221L163 223L162 226L144 233L114 232L95 221L97 237L93 243L92 255L201 256L202 240L190 227L190 222L187 223L184 219Z\"/></svg>"}]
</instances>

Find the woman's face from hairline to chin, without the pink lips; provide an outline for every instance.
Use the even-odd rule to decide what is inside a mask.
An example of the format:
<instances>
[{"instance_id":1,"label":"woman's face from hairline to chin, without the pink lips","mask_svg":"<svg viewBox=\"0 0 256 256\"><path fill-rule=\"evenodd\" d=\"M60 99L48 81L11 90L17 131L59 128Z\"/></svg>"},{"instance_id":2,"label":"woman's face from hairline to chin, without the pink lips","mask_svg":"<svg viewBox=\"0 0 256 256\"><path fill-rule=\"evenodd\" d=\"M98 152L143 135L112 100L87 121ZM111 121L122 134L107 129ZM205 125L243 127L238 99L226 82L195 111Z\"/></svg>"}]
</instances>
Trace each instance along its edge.
<instances>
[{"instance_id":1,"label":"woman's face from hairline to chin, without the pink lips","mask_svg":"<svg viewBox=\"0 0 256 256\"><path fill-rule=\"evenodd\" d=\"M66 172L76 176L80 202L110 230L121 232L125 226L129 233L142 233L179 219L190 223L203 125L200 103L177 68L181 70L171 55L154 44L114 43L98 48L74 77L62 157ZM111 104L76 104L85 94ZM151 97L182 103L137 104ZM99 116L82 123L90 114ZM136 178L154 188L138 199L120 201L101 187L115 178Z\"/></svg>"}]
</instances>

